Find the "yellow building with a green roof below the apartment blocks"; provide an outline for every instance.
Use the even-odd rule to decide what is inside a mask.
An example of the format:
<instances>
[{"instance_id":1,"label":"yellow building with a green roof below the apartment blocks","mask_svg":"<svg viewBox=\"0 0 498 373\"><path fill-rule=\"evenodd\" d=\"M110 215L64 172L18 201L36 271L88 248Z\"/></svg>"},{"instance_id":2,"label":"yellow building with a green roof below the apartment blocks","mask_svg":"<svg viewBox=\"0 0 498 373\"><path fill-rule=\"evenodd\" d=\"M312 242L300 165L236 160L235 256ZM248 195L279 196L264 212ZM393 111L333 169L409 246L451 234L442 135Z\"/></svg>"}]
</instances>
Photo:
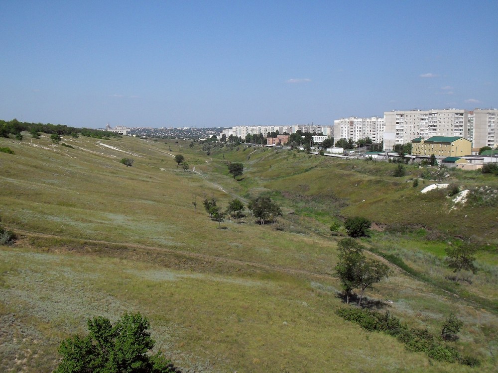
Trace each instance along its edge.
<instances>
[{"instance_id":1,"label":"yellow building with a green roof below the apartment blocks","mask_svg":"<svg viewBox=\"0 0 498 373\"><path fill-rule=\"evenodd\" d=\"M411 154L436 157L463 157L472 154L472 142L463 137L432 136L411 140Z\"/></svg>"}]
</instances>

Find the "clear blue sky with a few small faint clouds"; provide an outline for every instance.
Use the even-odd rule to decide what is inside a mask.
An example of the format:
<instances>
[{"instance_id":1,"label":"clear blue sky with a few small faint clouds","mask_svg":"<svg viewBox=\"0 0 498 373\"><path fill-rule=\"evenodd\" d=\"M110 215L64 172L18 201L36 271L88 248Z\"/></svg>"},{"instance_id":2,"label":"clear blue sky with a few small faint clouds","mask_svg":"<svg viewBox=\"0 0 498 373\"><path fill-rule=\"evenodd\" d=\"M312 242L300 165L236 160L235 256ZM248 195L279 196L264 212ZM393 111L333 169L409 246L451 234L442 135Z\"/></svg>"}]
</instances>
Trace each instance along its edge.
<instances>
[{"instance_id":1,"label":"clear blue sky with a few small faint clouds","mask_svg":"<svg viewBox=\"0 0 498 373\"><path fill-rule=\"evenodd\" d=\"M0 119L331 125L497 107L497 14L497 0L0 0Z\"/></svg>"}]
</instances>

